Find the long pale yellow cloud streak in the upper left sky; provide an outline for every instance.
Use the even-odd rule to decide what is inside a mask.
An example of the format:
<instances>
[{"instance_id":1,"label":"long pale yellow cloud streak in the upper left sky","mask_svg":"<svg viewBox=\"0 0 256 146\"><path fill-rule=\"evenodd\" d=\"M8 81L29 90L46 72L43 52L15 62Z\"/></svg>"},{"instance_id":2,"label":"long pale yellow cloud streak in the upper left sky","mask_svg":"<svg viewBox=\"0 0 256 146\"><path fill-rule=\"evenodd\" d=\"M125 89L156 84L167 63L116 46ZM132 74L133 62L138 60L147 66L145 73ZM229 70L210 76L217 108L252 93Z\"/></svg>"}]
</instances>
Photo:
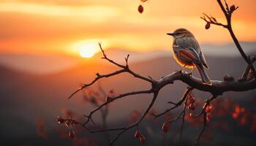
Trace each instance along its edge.
<instances>
[{"instance_id":1,"label":"long pale yellow cloud streak in the upper left sky","mask_svg":"<svg viewBox=\"0 0 256 146\"><path fill-rule=\"evenodd\" d=\"M88 20L104 20L115 17L119 10L115 7L89 5L81 7L43 5L33 3L0 3L0 12L21 12L34 15L83 17Z\"/></svg>"}]
</instances>

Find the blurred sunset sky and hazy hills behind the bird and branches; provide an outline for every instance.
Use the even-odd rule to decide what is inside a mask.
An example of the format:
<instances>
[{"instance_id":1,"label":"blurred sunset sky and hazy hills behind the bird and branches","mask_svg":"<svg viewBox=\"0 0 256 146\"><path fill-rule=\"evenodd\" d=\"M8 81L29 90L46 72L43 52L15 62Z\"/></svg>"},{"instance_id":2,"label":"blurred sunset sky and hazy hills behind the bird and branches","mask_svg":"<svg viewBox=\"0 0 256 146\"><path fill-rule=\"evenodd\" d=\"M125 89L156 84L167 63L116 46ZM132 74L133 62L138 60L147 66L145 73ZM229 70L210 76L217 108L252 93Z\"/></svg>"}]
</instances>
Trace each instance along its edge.
<instances>
[{"instance_id":1,"label":"blurred sunset sky and hazy hills behind the bird and branches","mask_svg":"<svg viewBox=\"0 0 256 146\"><path fill-rule=\"evenodd\" d=\"M233 29L245 53L253 55L256 1L227 2L239 7L233 14ZM67 97L82 83L93 80L97 72L117 69L101 59L98 42L113 60L124 63L124 57L130 54L131 69L159 79L180 69L170 51L173 39L166 33L187 28L200 42L211 80L223 80L224 74L238 79L244 71L246 63L228 31L217 26L206 30L200 19L205 12L225 23L217 1L149 0L143 3L142 14L138 12L140 4L139 0L0 1L0 145L106 145L105 134L89 134L81 128L75 129L75 140L69 139L70 128L56 122L58 115L85 120L83 115L94 106L84 100L84 93L69 100ZM193 74L197 76L197 72ZM99 85L105 93L113 89L116 94L150 87L128 74L102 80L90 90L97 91ZM178 101L185 88L182 82L164 88L154 110L161 112L170 106L167 101ZM200 91L194 91L194 95L197 108L210 96ZM212 118L203 145L256 145L255 95L253 90L219 97L217 103L225 104L217 104L218 110L214 111L220 115ZM108 127L128 124L132 113L145 110L150 99L151 95L134 96L111 104ZM246 111L240 118L233 116L236 107ZM99 125L102 123L100 113L94 118ZM180 123L173 123L170 132L163 134L164 120L147 118L142 123L144 145L192 145L201 128L187 120L184 138L178 141ZM116 145L140 145L133 138L134 132L132 129L124 134Z\"/></svg>"}]
</instances>

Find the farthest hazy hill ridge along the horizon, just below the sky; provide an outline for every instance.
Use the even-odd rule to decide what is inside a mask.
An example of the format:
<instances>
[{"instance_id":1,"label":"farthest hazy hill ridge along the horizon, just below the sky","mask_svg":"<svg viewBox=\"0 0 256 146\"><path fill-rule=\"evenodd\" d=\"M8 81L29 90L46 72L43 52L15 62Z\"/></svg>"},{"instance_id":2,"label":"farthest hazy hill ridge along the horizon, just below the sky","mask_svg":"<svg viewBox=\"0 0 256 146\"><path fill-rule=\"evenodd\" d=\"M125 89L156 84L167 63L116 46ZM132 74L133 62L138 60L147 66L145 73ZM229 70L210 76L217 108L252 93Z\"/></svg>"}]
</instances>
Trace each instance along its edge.
<instances>
[{"instance_id":1,"label":"farthest hazy hill ridge along the horizon, just below the sky","mask_svg":"<svg viewBox=\"0 0 256 146\"><path fill-rule=\"evenodd\" d=\"M241 42L246 54L256 53L256 42ZM225 45L201 45L203 53L211 57L239 57L236 46L232 44ZM170 44L171 48L171 44ZM130 55L130 63L139 63L141 61L150 61L156 58L165 58L171 55L170 48L162 48L140 53L138 51L129 51L124 49L108 49L105 52L110 58L115 58L118 62L124 62L124 57ZM58 72L69 70L75 66L88 61L101 61L102 53L94 55L94 58L79 58L67 55L34 55L34 54L0 54L0 66L28 72L32 74L56 74Z\"/></svg>"}]
</instances>

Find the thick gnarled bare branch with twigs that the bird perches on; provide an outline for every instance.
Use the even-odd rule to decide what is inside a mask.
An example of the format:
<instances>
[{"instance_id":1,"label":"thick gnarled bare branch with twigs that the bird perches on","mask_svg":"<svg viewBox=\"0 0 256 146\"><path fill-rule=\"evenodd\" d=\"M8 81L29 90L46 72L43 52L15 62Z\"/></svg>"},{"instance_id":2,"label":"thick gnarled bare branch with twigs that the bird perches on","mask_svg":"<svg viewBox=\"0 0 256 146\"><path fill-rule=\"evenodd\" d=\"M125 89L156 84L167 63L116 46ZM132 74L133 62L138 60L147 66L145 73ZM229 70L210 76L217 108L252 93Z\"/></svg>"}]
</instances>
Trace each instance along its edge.
<instances>
[{"instance_id":1,"label":"thick gnarled bare branch with twigs that the bird perches on","mask_svg":"<svg viewBox=\"0 0 256 146\"><path fill-rule=\"evenodd\" d=\"M101 47L100 44L99 44L99 47L102 50L102 47ZM105 103L100 104L97 108L92 110L89 115L85 115L85 117L87 118L85 123L79 123L81 126L86 128L91 133L106 132L106 131L120 131L119 134L110 142L110 145L113 145L113 143L116 142L116 140L118 139L118 137L121 136L121 134L124 134L124 132L128 131L130 128L138 126L140 124L140 122L148 114L149 110L151 110L151 107L154 105L154 101L157 99L159 91L162 88L164 88L166 85L173 84L173 82L176 81L176 80L180 80L180 81L186 83L187 85L189 85L190 87L187 88L187 90L184 93L184 96L180 99L180 101L178 101L178 103L170 102L170 104L174 105L173 107L171 107L170 109L165 110L165 112L159 113L158 115L154 115L154 116L155 116L155 118L158 118L161 115L165 115L165 113L170 112L170 110L173 110L176 107L181 106L181 104L184 103L184 101L185 101L184 110L181 111L181 113L178 115L178 117L176 117L173 120L170 120L170 122L173 122L173 121L178 120L178 119L182 120L180 137L182 135L182 131L183 131L183 127L184 127L184 116L186 114L185 110L186 110L186 105L187 105L187 96L192 92L192 89L195 88L195 89L200 90L200 91L206 91L206 92L209 92L213 95L212 98L208 99L206 101L206 103L204 104L202 112L199 115L197 115L197 116L200 116L200 115L203 115L206 112L205 111L206 107L210 104L211 100L215 99L219 95L222 95L222 93L225 93L227 91L249 91L249 90L252 90L252 89L256 88L256 80L255 79L246 80L244 82L238 82L236 80L224 80L224 81L212 80L211 81L212 85L205 85L201 82L200 79L198 79L197 77L193 77L191 74L189 74L187 72L173 72L171 74L168 74L165 77L162 77L160 80L153 80L151 77L144 77L144 76L142 76L140 74L137 74L137 73L135 73L135 72L133 72L132 70L129 69L129 66L128 66L129 55L127 55L127 58L125 58L126 65L123 66L121 64L116 63L113 60L110 60L107 57L107 55L105 54L104 50L102 50L102 54L104 56L103 58L108 60L110 63L120 67L121 69L116 71L116 72L109 73L109 74L101 75L101 74L97 73L97 77L91 83L84 84L82 86L82 88L80 88L77 91L75 91L74 93L72 93L71 96L69 96L69 99L73 95L75 95L75 93L78 93L78 91L82 90L83 88L86 88L86 87L89 87L90 85L93 85L94 82L97 82L97 80L99 80L103 77L113 77L113 76L121 74L123 72L127 72L129 74L132 74L134 77L139 78L140 80L145 80L148 83L151 83L151 88L148 89L148 90L132 91L132 92L129 92L129 93L120 94L120 95L118 95L114 98L110 98L108 101L105 101ZM248 66L252 66L252 65L248 65ZM251 67L251 69L252 69L252 67ZM142 94L142 93L154 93L154 97L151 100L151 103L148 105L148 108L146 109L146 111L143 113L143 116L140 118L140 120L133 123L132 125L127 126L127 127L121 127L121 128L99 129L97 131L92 131L89 127L86 126L86 124L89 123L89 121L94 123L94 121L91 118L92 115L94 115L95 112L100 110L105 105L110 104L111 102L115 101L116 99L121 99L124 96L131 96L131 95L137 95L137 94ZM199 137L197 137L197 139L200 139L201 135L203 134L204 129L205 129L205 126L203 127L203 130L201 131L201 133L200 133Z\"/></svg>"}]
</instances>

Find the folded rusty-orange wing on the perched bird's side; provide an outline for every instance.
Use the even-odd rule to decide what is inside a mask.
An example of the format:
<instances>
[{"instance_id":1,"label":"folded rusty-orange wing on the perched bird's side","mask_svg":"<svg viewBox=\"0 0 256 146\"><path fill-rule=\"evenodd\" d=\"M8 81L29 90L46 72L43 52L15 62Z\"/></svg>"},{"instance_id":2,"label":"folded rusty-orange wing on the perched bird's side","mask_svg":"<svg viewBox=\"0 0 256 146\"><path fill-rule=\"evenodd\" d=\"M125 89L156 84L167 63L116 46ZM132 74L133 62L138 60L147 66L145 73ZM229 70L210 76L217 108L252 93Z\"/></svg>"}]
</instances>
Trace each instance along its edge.
<instances>
[{"instance_id":1,"label":"folded rusty-orange wing on the perched bird's side","mask_svg":"<svg viewBox=\"0 0 256 146\"><path fill-rule=\"evenodd\" d=\"M182 47L175 45L173 46L173 49L176 50L176 52L184 61L193 64L202 64L202 62L200 61L200 56L198 55L197 51L195 51L195 49L193 49L192 47Z\"/></svg>"}]
</instances>

